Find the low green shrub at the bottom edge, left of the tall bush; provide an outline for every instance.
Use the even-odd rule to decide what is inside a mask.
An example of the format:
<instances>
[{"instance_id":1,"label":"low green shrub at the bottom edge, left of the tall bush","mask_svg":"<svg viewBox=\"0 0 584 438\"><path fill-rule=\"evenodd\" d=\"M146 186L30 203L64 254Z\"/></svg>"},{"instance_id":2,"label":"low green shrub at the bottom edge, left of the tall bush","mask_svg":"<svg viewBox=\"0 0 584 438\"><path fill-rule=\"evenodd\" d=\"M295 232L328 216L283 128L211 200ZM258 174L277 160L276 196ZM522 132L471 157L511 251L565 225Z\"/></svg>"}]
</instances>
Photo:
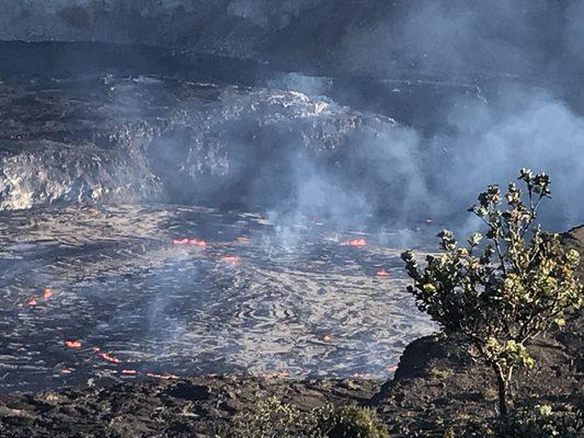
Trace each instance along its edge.
<instances>
[{"instance_id":1,"label":"low green shrub at the bottom edge, left of the tall bush","mask_svg":"<svg viewBox=\"0 0 584 438\"><path fill-rule=\"evenodd\" d=\"M221 438L389 438L373 410L328 405L304 411L270 397L238 415Z\"/></svg>"}]
</instances>

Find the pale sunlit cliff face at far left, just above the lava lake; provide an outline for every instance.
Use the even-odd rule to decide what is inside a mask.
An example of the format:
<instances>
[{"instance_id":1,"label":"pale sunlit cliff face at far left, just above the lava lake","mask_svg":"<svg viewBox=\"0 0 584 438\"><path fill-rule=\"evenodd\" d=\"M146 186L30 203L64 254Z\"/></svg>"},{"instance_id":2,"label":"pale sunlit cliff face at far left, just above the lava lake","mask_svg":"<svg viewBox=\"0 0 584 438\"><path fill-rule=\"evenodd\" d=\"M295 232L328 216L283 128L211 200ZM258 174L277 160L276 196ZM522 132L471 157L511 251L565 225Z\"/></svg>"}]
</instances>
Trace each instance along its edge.
<instances>
[{"instance_id":1,"label":"pale sunlit cliff face at far left, just above the lava lake","mask_svg":"<svg viewBox=\"0 0 584 438\"><path fill-rule=\"evenodd\" d=\"M0 209L56 201L156 199L161 194L160 183L140 160L124 151L100 151L80 145L2 142Z\"/></svg>"}]
</instances>

